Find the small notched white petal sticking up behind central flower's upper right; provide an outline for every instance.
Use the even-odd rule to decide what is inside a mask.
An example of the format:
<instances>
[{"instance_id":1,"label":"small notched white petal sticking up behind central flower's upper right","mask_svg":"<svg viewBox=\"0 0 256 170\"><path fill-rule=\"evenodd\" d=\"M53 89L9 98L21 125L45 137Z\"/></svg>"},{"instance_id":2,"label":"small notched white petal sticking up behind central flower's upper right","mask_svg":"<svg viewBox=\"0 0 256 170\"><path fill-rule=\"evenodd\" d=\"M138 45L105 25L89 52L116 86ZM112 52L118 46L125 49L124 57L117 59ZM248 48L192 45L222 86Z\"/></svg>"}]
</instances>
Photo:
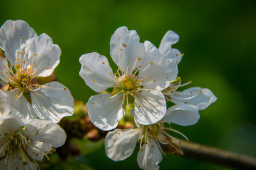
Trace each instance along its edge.
<instances>
[{"instance_id":1,"label":"small notched white petal sticking up behind central flower's upper right","mask_svg":"<svg viewBox=\"0 0 256 170\"><path fill-rule=\"evenodd\" d=\"M179 41L179 35L174 31L167 31L159 45L159 52L174 59L179 64L182 54L179 50L172 48L172 45ZM172 50L171 50L172 49Z\"/></svg>"}]
</instances>

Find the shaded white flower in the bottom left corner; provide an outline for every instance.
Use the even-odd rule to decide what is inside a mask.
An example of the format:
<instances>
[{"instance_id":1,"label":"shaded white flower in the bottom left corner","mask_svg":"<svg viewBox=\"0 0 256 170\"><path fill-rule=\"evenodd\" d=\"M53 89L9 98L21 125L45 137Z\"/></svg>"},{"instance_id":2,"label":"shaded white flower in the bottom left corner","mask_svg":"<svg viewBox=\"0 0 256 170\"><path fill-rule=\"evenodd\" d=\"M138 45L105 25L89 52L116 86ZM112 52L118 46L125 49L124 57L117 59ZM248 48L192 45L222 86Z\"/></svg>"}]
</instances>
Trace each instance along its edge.
<instances>
[{"instance_id":1,"label":"shaded white flower in the bottom left corner","mask_svg":"<svg viewBox=\"0 0 256 170\"><path fill-rule=\"evenodd\" d=\"M0 117L0 169L36 169L56 147L65 143L66 134L47 120L21 120L15 116Z\"/></svg>"}]
</instances>

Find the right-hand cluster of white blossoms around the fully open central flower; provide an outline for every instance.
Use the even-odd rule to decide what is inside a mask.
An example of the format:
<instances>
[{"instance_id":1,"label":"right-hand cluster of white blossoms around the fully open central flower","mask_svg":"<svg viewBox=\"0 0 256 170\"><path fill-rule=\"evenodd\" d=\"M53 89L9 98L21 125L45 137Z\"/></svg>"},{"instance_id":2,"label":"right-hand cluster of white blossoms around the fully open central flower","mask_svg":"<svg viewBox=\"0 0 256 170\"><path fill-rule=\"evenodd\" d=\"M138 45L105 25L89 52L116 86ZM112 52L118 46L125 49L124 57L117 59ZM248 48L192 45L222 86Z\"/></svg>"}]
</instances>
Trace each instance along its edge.
<instances>
[{"instance_id":1,"label":"right-hand cluster of white blossoms around the fully open central flower","mask_svg":"<svg viewBox=\"0 0 256 170\"><path fill-rule=\"evenodd\" d=\"M179 36L168 31L157 49L150 41L140 43L136 31L120 27L110 40L110 55L118 66L115 72L108 59L99 53L87 53L79 59L82 65L79 74L86 85L95 92L102 92L90 97L86 104L92 123L103 131L110 131L126 118L136 127L108 132L105 149L110 159L126 159L139 141L140 168L159 169L157 164L164 153L161 145L168 146L170 153L183 154L176 145L179 139L170 133L184 134L170 125L196 124L200 118L198 110L216 101L209 89L178 90L191 82L181 84L181 78L177 77L177 64L183 55L172 48L177 41ZM106 93L109 88L113 89L110 94ZM167 109L168 101L173 106ZM132 122L131 116L134 117Z\"/></svg>"}]
</instances>

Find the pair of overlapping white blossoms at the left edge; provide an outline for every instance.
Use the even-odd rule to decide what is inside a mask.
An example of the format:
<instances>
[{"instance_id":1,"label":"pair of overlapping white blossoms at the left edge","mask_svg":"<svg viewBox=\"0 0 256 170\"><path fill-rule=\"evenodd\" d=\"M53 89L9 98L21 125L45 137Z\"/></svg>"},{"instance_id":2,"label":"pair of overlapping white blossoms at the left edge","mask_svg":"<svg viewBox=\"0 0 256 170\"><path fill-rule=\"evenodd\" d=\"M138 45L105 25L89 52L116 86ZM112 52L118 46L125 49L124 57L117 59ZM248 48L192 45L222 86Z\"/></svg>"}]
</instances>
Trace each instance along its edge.
<instances>
[{"instance_id":1,"label":"pair of overlapping white blossoms at the left edge","mask_svg":"<svg viewBox=\"0 0 256 170\"><path fill-rule=\"evenodd\" d=\"M40 83L60 62L61 50L47 34L23 20L0 28L0 169L39 169L42 160L65 143L56 124L74 113L70 91L57 81Z\"/></svg>"}]
</instances>

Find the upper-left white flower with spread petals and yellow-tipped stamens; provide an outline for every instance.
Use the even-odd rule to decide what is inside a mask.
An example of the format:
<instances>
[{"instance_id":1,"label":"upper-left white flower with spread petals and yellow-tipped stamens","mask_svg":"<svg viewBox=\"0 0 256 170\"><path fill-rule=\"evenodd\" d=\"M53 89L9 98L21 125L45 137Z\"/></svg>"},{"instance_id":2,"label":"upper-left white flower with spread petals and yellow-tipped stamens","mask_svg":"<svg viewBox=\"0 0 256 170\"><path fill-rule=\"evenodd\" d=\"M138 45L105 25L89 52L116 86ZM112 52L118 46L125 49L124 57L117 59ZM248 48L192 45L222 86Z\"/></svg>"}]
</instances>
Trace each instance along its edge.
<instances>
[{"instance_id":1,"label":"upper-left white flower with spread petals and yellow-tipped stamens","mask_svg":"<svg viewBox=\"0 0 256 170\"><path fill-rule=\"evenodd\" d=\"M74 99L58 82L40 85L37 77L50 76L60 62L60 47L47 34L23 20L7 20L0 28L0 78L9 83L11 104L26 118L60 122L74 113Z\"/></svg>"}]
</instances>

